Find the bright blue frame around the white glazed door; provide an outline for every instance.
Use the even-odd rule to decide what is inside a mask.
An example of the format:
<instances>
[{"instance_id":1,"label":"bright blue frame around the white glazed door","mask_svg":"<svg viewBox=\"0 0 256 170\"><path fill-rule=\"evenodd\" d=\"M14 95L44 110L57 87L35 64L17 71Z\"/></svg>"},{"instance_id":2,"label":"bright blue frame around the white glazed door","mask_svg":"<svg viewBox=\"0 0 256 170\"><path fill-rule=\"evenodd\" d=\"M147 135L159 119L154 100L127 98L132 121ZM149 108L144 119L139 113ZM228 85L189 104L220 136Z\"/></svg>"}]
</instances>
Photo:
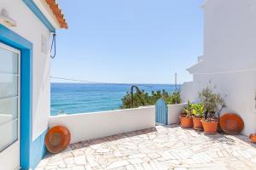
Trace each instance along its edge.
<instances>
[{"instance_id":1,"label":"bright blue frame around the white glazed door","mask_svg":"<svg viewBox=\"0 0 256 170\"><path fill-rule=\"evenodd\" d=\"M31 167L32 42L0 24L0 42L20 50L20 167Z\"/></svg>"}]
</instances>

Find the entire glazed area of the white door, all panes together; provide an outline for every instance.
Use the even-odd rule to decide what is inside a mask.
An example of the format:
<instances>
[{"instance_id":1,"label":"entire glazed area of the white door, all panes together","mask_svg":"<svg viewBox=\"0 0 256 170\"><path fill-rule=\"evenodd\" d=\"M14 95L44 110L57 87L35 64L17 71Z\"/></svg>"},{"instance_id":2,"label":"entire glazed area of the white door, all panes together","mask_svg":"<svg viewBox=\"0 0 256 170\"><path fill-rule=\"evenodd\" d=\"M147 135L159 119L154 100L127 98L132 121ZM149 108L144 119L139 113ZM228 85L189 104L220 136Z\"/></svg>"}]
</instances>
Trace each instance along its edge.
<instances>
[{"instance_id":1,"label":"entire glazed area of the white door, all panes together","mask_svg":"<svg viewBox=\"0 0 256 170\"><path fill-rule=\"evenodd\" d=\"M0 152L18 140L18 57L0 47Z\"/></svg>"}]
</instances>

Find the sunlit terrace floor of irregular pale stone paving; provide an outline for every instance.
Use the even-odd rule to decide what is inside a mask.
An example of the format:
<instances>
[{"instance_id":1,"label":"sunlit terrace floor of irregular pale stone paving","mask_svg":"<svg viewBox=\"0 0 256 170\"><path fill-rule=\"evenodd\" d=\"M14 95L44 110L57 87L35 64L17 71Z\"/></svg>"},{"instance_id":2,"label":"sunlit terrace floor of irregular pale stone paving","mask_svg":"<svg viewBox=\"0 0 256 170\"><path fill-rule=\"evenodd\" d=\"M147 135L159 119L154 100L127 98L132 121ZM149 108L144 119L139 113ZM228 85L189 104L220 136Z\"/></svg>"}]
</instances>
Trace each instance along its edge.
<instances>
[{"instance_id":1,"label":"sunlit terrace floor of irregular pale stone paving","mask_svg":"<svg viewBox=\"0 0 256 170\"><path fill-rule=\"evenodd\" d=\"M43 169L256 169L256 144L241 135L157 126L71 144L61 154L46 156L37 167Z\"/></svg>"}]
</instances>

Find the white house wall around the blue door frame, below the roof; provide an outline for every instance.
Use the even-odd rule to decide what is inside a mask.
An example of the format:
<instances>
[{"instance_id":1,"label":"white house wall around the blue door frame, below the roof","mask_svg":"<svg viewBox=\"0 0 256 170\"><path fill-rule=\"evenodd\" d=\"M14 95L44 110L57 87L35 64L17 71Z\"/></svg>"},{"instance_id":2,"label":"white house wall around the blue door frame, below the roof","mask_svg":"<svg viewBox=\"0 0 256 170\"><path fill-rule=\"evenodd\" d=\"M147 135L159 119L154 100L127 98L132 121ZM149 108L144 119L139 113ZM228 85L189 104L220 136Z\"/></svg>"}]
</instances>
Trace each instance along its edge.
<instances>
[{"instance_id":1,"label":"white house wall around the blue door frame, below the roof","mask_svg":"<svg viewBox=\"0 0 256 170\"><path fill-rule=\"evenodd\" d=\"M36 139L48 127L49 117L49 54L41 53L41 37L50 38L50 32L21 0L1 0L0 10L6 8L16 20L16 27L9 27L33 44L32 83L32 139Z\"/></svg>"}]
</instances>

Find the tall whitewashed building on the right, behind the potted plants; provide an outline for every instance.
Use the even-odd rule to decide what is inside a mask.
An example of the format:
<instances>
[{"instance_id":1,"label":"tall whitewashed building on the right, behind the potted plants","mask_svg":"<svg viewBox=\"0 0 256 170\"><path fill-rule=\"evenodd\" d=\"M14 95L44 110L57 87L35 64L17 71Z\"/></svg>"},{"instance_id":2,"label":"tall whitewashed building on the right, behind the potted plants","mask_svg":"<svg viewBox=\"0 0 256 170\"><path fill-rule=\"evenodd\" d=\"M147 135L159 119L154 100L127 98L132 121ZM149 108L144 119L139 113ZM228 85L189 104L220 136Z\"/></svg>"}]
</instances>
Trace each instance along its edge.
<instances>
[{"instance_id":1,"label":"tall whitewashed building on the right, behind the potted plants","mask_svg":"<svg viewBox=\"0 0 256 170\"><path fill-rule=\"evenodd\" d=\"M256 131L256 1L207 0L204 54L188 69L193 82L183 84L183 101L198 101L198 92L209 85L226 96L223 112L239 114L244 134Z\"/></svg>"}]
</instances>

